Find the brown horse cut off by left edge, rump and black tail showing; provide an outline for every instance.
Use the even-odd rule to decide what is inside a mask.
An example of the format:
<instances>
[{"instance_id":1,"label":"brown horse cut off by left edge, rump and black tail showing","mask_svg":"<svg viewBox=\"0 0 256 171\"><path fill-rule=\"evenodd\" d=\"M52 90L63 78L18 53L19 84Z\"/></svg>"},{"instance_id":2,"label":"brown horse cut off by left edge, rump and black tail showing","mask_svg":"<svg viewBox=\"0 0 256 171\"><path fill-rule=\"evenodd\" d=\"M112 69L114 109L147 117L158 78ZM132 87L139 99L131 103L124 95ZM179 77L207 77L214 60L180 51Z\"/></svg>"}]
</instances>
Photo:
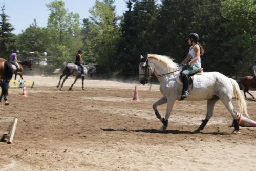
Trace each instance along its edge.
<instances>
[{"instance_id":1,"label":"brown horse cut off by left edge, rump and black tail showing","mask_svg":"<svg viewBox=\"0 0 256 171\"><path fill-rule=\"evenodd\" d=\"M13 69L12 65L7 62L7 60L0 58L0 86L2 88L2 92L0 95L0 102L2 97L4 96L5 105L9 105L7 102L9 82L12 79Z\"/></svg>"}]
</instances>

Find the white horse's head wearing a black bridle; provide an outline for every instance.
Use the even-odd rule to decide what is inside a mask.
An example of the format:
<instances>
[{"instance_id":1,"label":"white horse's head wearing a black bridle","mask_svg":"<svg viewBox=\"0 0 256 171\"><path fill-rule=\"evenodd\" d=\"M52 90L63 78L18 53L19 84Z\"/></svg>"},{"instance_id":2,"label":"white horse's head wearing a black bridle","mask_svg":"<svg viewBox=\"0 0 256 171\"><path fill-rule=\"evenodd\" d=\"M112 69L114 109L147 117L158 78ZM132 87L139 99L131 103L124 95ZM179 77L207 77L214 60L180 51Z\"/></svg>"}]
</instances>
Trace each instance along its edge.
<instances>
[{"instance_id":1,"label":"white horse's head wearing a black bridle","mask_svg":"<svg viewBox=\"0 0 256 171\"><path fill-rule=\"evenodd\" d=\"M139 63L139 81L141 84L145 85L150 80L150 76L152 74L151 67L148 64L147 55L143 57L140 55L140 63Z\"/></svg>"}]
</instances>

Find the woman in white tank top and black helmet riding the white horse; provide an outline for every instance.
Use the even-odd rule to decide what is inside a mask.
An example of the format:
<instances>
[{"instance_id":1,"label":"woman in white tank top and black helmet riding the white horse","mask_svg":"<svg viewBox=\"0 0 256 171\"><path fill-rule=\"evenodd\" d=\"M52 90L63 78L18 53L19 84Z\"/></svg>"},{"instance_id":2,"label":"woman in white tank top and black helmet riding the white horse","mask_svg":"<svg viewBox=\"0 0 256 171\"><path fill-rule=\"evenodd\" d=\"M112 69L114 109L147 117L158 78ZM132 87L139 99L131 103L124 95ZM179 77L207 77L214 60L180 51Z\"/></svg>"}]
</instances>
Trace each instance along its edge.
<instances>
[{"instance_id":1,"label":"woman in white tank top and black helmet riding the white horse","mask_svg":"<svg viewBox=\"0 0 256 171\"><path fill-rule=\"evenodd\" d=\"M199 36L197 33L190 33L188 35L188 44L190 45L190 48L189 48L187 57L181 63L181 66L183 68L183 71L182 71L183 90L184 90L182 94L183 98L189 97L188 75L197 73L201 69L200 56L204 54L204 49L202 45L199 44L198 41L199 41Z\"/></svg>"}]
</instances>

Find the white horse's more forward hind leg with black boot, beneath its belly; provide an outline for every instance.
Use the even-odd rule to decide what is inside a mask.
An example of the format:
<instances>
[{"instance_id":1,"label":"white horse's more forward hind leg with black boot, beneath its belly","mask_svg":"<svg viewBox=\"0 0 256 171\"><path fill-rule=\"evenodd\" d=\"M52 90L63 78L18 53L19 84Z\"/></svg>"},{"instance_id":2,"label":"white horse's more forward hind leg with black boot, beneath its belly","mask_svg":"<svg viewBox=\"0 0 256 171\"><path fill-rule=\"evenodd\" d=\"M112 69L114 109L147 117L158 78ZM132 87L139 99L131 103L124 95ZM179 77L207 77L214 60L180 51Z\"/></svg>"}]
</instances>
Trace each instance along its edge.
<instances>
[{"instance_id":1,"label":"white horse's more forward hind leg with black boot, beneath its belly","mask_svg":"<svg viewBox=\"0 0 256 171\"><path fill-rule=\"evenodd\" d=\"M217 96L215 96L213 99L207 100L207 114L204 120L202 120L202 124L199 126L199 128L195 132L200 132L204 129L207 122L210 120L212 115L214 114L214 105L219 100Z\"/></svg>"}]
</instances>

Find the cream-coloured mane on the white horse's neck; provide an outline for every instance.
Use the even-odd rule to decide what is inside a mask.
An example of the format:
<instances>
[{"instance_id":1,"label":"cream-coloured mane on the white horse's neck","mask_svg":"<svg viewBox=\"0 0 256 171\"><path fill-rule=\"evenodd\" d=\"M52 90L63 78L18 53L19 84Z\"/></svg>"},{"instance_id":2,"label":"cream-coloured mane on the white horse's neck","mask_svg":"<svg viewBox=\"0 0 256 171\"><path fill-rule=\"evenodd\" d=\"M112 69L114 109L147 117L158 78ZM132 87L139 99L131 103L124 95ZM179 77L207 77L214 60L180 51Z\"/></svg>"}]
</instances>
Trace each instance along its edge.
<instances>
[{"instance_id":1,"label":"cream-coloured mane on the white horse's neck","mask_svg":"<svg viewBox=\"0 0 256 171\"><path fill-rule=\"evenodd\" d=\"M174 62L174 59L168 56L148 54L147 57L148 59L153 59L151 60L152 63L166 70L167 72L178 70L178 64Z\"/></svg>"}]
</instances>

